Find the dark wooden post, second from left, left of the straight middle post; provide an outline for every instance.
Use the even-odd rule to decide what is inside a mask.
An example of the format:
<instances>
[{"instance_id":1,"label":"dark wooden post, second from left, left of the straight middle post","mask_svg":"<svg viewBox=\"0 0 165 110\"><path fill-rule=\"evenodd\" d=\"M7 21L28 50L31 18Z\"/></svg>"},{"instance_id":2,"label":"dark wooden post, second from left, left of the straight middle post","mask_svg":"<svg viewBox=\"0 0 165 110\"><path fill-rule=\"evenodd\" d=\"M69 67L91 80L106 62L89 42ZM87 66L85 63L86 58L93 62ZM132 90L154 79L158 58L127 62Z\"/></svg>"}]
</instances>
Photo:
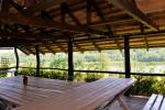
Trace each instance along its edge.
<instances>
[{"instance_id":1,"label":"dark wooden post, second from left, left of the straight middle post","mask_svg":"<svg viewBox=\"0 0 165 110\"><path fill-rule=\"evenodd\" d=\"M35 46L35 54L36 54L36 77L40 77L40 51L38 51L38 45Z\"/></svg>"}]
</instances>

